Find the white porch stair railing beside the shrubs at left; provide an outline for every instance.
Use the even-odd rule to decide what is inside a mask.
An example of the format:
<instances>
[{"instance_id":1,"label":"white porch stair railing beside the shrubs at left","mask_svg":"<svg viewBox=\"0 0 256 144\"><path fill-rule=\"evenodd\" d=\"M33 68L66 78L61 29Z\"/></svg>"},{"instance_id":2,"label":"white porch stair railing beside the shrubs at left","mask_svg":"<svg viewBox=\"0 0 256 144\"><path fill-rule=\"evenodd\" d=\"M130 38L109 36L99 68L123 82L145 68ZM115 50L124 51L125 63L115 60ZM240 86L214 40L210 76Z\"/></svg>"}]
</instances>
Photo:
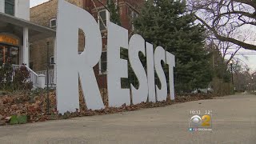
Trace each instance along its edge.
<instances>
[{"instance_id":1,"label":"white porch stair railing beside the shrubs at left","mask_svg":"<svg viewBox=\"0 0 256 144\"><path fill-rule=\"evenodd\" d=\"M13 74L12 79L14 78L15 71L18 70L22 65L13 65ZM29 82L33 83L34 87L38 86L38 74L36 74L33 70L31 70L28 66L26 66L26 70L30 73L30 78L28 79Z\"/></svg>"}]
</instances>

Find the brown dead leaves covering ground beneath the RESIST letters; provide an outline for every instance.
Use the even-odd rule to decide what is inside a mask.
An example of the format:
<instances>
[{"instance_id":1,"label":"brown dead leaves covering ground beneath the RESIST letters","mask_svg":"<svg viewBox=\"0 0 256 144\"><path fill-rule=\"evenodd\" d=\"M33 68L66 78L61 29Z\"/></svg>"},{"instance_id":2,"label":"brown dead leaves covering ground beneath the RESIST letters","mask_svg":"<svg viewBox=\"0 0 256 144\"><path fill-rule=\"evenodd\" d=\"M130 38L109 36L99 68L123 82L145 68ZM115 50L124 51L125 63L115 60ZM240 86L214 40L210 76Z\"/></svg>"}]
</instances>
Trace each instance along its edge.
<instances>
[{"instance_id":1,"label":"brown dead leaves covering ground beneath the RESIST letters","mask_svg":"<svg viewBox=\"0 0 256 144\"><path fill-rule=\"evenodd\" d=\"M55 92L50 92L50 112L47 111L47 94L39 94L38 96L31 97L28 94L23 94L19 96L0 96L0 126L10 124L11 117L13 116L24 116L27 117L27 122L43 122L46 120L56 120L56 119L66 119L82 116L93 116L93 115L103 115L103 114L114 114L125 111L140 110L144 108L153 108L168 106L175 102L189 102L197 101L200 99L210 99L213 98L212 95L207 94L186 94L182 96L176 96L174 101L167 99L163 102L142 102L138 105L126 106L125 104L121 107L109 107L107 92L102 91L102 99L106 106L106 109L102 110L88 110L86 108L86 102L82 96L81 90L79 90L79 102L80 111L77 109L76 112L65 114L58 114L57 102ZM17 122L15 122L17 123ZM24 122L22 122L24 123Z\"/></svg>"}]
</instances>

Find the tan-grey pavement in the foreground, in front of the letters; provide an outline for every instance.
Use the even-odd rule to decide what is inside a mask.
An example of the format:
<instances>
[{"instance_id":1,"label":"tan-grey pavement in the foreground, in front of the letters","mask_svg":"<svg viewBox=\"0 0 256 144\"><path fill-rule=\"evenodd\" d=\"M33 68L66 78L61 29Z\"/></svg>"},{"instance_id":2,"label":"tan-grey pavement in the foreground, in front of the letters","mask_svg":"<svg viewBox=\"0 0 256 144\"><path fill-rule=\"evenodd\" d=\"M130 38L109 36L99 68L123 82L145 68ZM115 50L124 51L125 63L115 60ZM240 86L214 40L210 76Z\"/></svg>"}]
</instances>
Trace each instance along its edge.
<instances>
[{"instance_id":1,"label":"tan-grey pavement in the foreground, in front of the letters","mask_svg":"<svg viewBox=\"0 0 256 144\"><path fill-rule=\"evenodd\" d=\"M189 131L190 110L212 110L212 131ZM256 95L236 94L119 114L0 126L0 143L256 144Z\"/></svg>"}]
</instances>

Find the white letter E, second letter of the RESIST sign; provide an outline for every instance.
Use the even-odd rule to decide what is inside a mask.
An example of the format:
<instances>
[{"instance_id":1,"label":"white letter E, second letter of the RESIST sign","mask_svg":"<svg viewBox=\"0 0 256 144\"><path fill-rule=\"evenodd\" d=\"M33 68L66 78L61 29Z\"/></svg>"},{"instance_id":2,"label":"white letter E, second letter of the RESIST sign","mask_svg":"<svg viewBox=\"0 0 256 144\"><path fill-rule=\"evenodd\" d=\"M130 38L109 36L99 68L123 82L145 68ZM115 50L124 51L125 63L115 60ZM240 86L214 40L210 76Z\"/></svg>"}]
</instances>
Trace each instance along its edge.
<instances>
[{"instance_id":1,"label":"white letter E, second letter of the RESIST sign","mask_svg":"<svg viewBox=\"0 0 256 144\"><path fill-rule=\"evenodd\" d=\"M109 106L130 105L130 90L121 88L121 78L128 78L128 64L120 59L120 48L128 49L128 30L108 24L107 87Z\"/></svg>"}]
</instances>

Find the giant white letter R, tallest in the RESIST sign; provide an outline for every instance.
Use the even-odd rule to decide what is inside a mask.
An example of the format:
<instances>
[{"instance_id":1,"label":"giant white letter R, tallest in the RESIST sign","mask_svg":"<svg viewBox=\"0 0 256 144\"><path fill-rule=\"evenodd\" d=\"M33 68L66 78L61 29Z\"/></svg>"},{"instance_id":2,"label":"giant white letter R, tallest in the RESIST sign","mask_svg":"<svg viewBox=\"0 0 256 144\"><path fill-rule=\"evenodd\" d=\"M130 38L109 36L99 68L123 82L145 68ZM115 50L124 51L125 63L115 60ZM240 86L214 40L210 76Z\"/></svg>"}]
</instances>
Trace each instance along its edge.
<instances>
[{"instance_id":1,"label":"giant white letter R, tallest in the RESIST sign","mask_svg":"<svg viewBox=\"0 0 256 144\"><path fill-rule=\"evenodd\" d=\"M79 108L78 74L88 109L104 108L94 75L102 54L102 38L94 17L68 2L58 1L57 102L60 113ZM78 28L86 34L85 51L78 55Z\"/></svg>"}]
</instances>

